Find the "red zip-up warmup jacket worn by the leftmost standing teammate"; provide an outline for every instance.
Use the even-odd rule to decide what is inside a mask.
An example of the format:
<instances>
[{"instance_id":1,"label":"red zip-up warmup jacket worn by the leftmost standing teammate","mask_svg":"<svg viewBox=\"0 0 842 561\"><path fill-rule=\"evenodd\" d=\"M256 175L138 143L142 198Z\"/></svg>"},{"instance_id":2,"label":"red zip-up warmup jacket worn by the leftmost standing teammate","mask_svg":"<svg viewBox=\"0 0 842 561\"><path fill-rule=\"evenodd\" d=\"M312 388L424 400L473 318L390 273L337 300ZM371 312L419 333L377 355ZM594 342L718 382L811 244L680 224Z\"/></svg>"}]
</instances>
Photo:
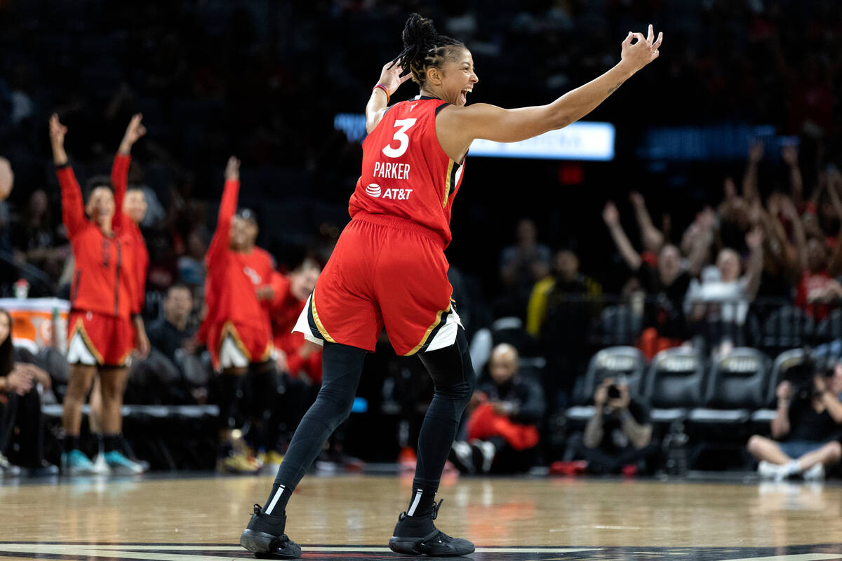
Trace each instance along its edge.
<instances>
[{"instance_id":1,"label":"red zip-up warmup jacket worn by the leftmost standing teammate","mask_svg":"<svg viewBox=\"0 0 842 561\"><path fill-rule=\"evenodd\" d=\"M88 220L72 167L57 167L56 176L61 186L61 220L75 259L70 288L72 310L125 319L140 313L131 241L116 228L111 236L105 236L99 226ZM122 209L116 207L115 223L120 223L122 214Z\"/></svg>"}]
</instances>

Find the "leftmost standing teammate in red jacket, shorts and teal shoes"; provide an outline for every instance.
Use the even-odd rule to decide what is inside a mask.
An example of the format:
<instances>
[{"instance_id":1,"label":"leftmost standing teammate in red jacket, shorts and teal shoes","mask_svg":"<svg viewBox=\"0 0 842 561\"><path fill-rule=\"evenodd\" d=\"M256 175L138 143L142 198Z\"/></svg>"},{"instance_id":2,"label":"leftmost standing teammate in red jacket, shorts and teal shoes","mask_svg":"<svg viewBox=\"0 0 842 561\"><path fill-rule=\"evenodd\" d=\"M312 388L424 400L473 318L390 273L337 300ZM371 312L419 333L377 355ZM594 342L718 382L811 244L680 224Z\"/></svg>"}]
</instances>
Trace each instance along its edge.
<instances>
[{"instance_id":1,"label":"leftmost standing teammate in red jacket, shorts and teal shoes","mask_svg":"<svg viewBox=\"0 0 842 561\"><path fill-rule=\"evenodd\" d=\"M136 130L133 143L142 135ZM67 127L57 115L50 119L50 140L56 175L61 185L61 214L75 259L68 319L67 362L71 365L64 400L62 426L66 433L62 467L70 474L93 473L93 463L79 450L82 405L94 376L102 389L102 431L105 459L114 468L131 470L131 463L116 449L122 430L120 407L133 347L141 356L149 340L136 299L136 277L131 241L115 223L122 209L115 207L107 181L93 183L88 204L73 170L67 164L64 137ZM86 216L87 214L87 216Z\"/></svg>"}]
</instances>

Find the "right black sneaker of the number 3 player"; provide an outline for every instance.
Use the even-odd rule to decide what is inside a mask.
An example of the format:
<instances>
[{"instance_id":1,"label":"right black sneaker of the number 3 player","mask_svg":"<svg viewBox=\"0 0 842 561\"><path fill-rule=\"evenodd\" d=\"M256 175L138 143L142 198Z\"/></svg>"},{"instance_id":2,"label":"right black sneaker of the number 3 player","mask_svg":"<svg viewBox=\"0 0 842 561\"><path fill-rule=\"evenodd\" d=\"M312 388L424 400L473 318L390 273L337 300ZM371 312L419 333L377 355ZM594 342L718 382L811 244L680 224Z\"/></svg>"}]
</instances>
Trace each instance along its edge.
<instances>
[{"instance_id":1,"label":"right black sneaker of the number 3 player","mask_svg":"<svg viewBox=\"0 0 842 561\"><path fill-rule=\"evenodd\" d=\"M439 507L425 516L407 516L402 512L397 517L395 533L389 538L389 548L395 553L407 555L429 555L430 557L456 557L474 552L473 543L461 537L450 537L435 527L433 521L439 516Z\"/></svg>"}]
</instances>

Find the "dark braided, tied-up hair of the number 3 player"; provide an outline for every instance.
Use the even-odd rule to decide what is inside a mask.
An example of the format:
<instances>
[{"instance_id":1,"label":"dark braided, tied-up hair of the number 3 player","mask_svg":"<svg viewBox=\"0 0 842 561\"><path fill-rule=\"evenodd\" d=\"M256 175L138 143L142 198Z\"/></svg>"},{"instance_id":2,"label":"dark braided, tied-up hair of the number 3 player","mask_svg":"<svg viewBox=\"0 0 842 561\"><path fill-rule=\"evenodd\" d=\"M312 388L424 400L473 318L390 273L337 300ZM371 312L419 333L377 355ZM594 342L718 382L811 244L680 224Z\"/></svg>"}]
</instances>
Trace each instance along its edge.
<instances>
[{"instance_id":1,"label":"dark braided, tied-up hair of the number 3 player","mask_svg":"<svg viewBox=\"0 0 842 561\"><path fill-rule=\"evenodd\" d=\"M452 56L454 47L465 45L446 35L440 35L433 26L433 20L413 13L403 26L403 50L395 59L403 68L413 73L413 82L424 86L427 80L425 70L430 66L441 68L442 63Z\"/></svg>"}]
</instances>

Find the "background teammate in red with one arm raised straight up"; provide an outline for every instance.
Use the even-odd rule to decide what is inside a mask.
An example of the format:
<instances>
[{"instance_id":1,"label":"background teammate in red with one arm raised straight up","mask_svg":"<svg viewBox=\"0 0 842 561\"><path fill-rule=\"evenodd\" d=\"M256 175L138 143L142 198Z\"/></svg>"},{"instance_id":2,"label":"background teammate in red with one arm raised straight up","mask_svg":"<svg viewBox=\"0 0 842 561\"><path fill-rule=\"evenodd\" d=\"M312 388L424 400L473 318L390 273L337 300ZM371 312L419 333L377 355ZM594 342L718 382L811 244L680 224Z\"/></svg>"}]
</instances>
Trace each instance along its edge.
<instances>
[{"instance_id":1,"label":"background teammate in red with one arm raised straight up","mask_svg":"<svg viewBox=\"0 0 842 561\"><path fill-rule=\"evenodd\" d=\"M251 211L237 211L240 161L232 157L225 170L225 189L219 207L216 232L205 255L205 304L207 313L200 327L200 341L210 352L219 384L220 450L217 467L248 473L258 463L241 446L237 434L239 395L244 378L251 380L264 410L274 405L278 384L272 363L272 328L269 323L271 278L274 260L254 245L258 225ZM264 299L258 298L264 294ZM259 388L259 389L257 389ZM274 392L274 393L273 393Z\"/></svg>"}]
</instances>

